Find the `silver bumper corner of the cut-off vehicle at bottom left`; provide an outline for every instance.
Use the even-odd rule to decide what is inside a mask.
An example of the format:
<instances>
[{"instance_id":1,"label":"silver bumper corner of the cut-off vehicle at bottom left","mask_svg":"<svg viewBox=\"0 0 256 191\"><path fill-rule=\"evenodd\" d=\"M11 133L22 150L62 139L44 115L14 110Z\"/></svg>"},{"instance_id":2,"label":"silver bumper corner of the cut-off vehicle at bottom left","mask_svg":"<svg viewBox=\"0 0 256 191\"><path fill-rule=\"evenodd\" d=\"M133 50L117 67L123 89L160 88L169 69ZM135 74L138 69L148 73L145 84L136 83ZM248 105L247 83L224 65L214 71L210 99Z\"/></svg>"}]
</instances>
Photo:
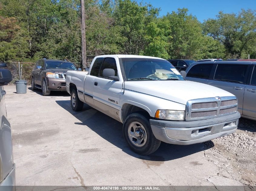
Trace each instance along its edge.
<instances>
[{"instance_id":1,"label":"silver bumper corner of the cut-off vehicle at bottom left","mask_svg":"<svg viewBox=\"0 0 256 191\"><path fill-rule=\"evenodd\" d=\"M0 191L15 191L15 164L10 173L5 177L5 179L0 183Z\"/></svg>"}]
</instances>

